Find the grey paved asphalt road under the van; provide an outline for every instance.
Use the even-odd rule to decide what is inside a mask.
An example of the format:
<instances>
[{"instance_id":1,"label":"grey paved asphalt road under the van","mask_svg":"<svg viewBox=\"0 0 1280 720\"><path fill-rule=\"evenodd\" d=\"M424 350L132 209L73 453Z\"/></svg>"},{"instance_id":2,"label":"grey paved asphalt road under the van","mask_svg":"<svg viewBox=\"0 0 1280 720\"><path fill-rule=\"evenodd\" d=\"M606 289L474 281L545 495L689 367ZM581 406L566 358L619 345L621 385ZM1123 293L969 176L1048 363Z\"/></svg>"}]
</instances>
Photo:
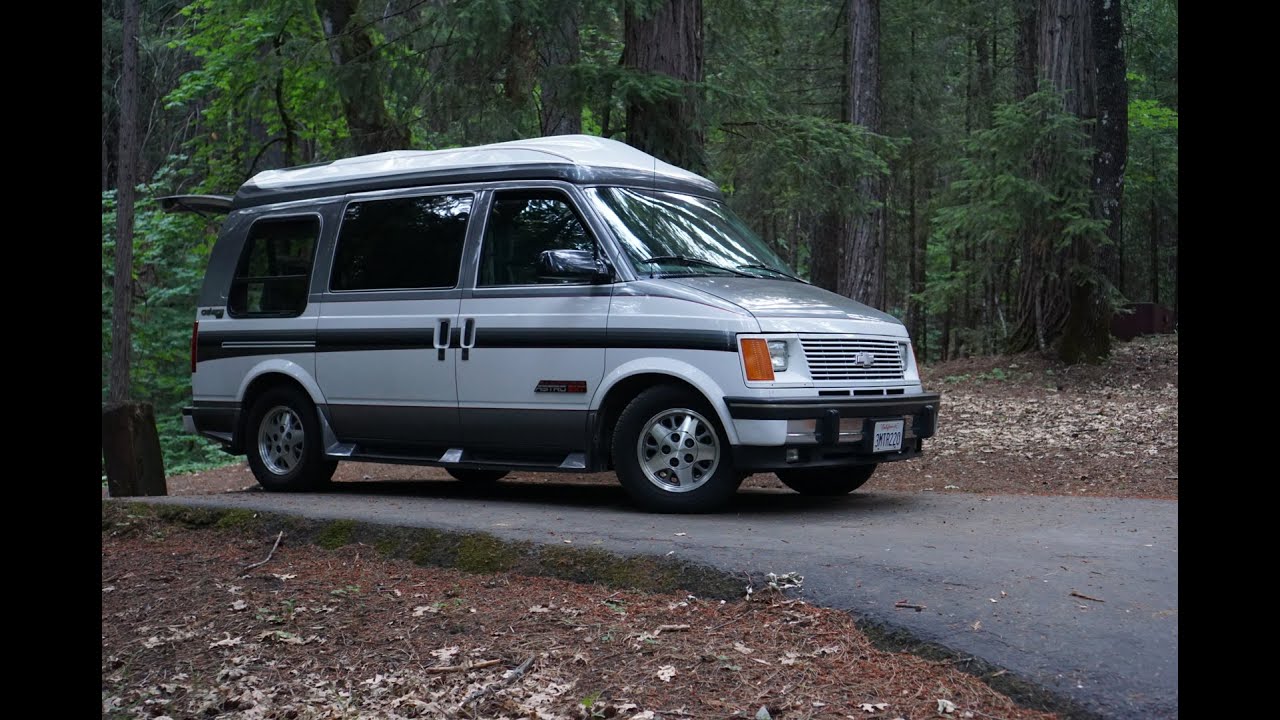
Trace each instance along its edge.
<instances>
[{"instance_id":1,"label":"grey paved asphalt road under the van","mask_svg":"<svg viewBox=\"0 0 1280 720\"><path fill-rule=\"evenodd\" d=\"M488 495L451 482L335 488L155 500L796 571L812 602L983 659L1098 716L1178 716L1176 502L744 491L723 514L673 516L628 507L620 488L572 483ZM900 600L927 609L895 609Z\"/></svg>"}]
</instances>

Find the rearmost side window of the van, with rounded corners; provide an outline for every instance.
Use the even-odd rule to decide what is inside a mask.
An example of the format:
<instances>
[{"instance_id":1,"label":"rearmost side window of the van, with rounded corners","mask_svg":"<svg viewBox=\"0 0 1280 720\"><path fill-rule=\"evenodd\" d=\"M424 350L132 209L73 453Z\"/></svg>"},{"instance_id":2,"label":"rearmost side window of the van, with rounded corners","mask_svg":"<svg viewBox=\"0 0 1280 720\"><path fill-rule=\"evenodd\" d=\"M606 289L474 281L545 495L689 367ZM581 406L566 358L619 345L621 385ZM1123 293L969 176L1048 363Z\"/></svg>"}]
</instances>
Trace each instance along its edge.
<instances>
[{"instance_id":1,"label":"rearmost side window of the van, with rounded corners","mask_svg":"<svg viewBox=\"0 0 1280 720\"><path fill-rule=\"evenodd\" d=\"M320 219L279 218L253 223L232 279L233 318L294 318L307 306Z\"/></svg>"}]
</instances>

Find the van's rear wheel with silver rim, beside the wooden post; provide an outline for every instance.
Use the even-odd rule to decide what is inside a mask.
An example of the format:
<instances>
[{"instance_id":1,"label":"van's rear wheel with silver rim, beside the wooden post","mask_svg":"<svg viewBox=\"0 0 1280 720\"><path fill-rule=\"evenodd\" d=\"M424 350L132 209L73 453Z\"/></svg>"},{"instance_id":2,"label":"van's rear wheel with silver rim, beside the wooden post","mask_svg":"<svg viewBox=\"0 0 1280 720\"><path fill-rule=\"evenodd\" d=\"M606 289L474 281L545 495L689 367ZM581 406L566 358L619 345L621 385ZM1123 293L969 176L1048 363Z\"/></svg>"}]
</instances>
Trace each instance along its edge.
<instances>
[{"instance_id":1,"label":"van's rear wheel with silver rim, beside the wooden post","mask_svg":"<svg viewBox=\"0 0 1280 720\"><path fill-rule=\"evenodd\" d=\"M311 398L294 387L261 395L248 415L248 466L262 489L306 491L329 483L338 461L324 456Z\"/></svg>"}]
</instances>

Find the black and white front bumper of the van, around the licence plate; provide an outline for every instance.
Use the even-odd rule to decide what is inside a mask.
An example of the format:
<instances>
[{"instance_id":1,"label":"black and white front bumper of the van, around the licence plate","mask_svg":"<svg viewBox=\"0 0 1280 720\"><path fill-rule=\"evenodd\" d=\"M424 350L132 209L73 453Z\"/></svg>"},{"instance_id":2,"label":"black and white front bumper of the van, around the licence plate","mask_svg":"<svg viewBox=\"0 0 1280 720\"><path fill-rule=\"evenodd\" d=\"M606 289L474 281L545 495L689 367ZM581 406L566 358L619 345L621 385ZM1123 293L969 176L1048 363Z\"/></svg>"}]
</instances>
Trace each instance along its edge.
<instances>
[{"instance_id":1,"label":"black and white front bumper of the van, around the licence plate","mask_svg":"<svg viewBox=\"0 0 1280 720\"><path fill-rule=\"evenodd\" d=\"M933 437L937 432L941 396L726 397L724 404L740 428L750 424L756 437L777 438L733 447L737 468L751 473L865 465L916 457L924 447L924 438ZM904 420L901 450L872 452L874 423L899 419ZM740 437L742 434L740 432Z\"/></svg>"}]
</instances>

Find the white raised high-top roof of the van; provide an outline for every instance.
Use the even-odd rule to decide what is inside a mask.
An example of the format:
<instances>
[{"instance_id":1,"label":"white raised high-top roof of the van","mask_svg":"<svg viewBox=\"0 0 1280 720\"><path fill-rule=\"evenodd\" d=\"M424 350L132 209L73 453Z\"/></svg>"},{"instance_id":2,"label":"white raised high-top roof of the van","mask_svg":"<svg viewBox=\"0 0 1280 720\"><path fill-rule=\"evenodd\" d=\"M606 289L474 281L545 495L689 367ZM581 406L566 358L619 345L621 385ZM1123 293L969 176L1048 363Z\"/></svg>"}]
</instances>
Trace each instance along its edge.
<instances>
[{"instance_id":1,"label":"white raised high-top roof of the van","mask_svg":"<svg viewBox=\"0 0 1280 720\"><path fill-rule=\"evenodd\" d=\"M561 135L449 150L394 150L319 165L264 170L241 187L234 205L244 208L413 184L532 178L685 187L703 195L719 195L719 188L709 179L630 145L589 135Z\"/></svg>"}]
</instances>

